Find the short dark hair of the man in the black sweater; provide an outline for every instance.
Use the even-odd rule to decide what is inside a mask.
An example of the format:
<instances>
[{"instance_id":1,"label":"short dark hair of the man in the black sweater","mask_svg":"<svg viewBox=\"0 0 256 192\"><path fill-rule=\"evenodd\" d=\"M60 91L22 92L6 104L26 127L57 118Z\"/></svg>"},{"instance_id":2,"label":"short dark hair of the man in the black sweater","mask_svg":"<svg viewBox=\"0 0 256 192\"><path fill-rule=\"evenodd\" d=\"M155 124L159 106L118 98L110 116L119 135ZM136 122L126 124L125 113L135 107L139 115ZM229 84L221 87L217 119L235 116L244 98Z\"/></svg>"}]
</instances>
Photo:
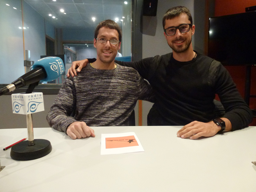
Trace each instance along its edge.
<instances>
[{"instance_id":1,"label":"short dark hair of the man in the black sweater","mask_svg":"<svg viewBox=\"0 0 256 192\"><path fill-rule=\"evenodd\" d=\"M193 25L192 16L191 16L189 9L184 6L177 6L177 7L172 7L167 12L165 12L164 17L163 17L163 28L165 26L165 20L172 19L174 17L179 17L180 15L182 15L184 13L188 15L188 20Z\"/></svg>"}]
</instances>

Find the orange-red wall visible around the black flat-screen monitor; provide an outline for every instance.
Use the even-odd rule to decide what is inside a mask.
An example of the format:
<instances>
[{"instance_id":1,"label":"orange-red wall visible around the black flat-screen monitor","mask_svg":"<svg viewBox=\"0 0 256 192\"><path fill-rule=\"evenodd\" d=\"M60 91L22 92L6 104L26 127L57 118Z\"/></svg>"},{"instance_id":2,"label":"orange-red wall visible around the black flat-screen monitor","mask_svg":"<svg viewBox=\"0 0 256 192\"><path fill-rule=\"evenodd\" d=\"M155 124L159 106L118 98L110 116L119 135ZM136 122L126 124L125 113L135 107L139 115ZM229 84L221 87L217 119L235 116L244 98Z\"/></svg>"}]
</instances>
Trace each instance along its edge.
<instances>
[{"instance_id":1,"label":"orange-red wall visible around the black flat-screen monitor","mask_svg":"<svg viewBox=\"0 0 256 192\"><path fill-rule=\"evenodd\" d=\"M215 17L244 13L246 7L256 5L256 0L215 0ZM241 34L242 35L242 34ZM256 64L256 63L255 63ZM236 87L244 97L245 66L225 66L232 76ZM252 67L251 74L251 95L256 95L256 66ZM256 98L250 99L250 108L256 109ZM256 118L253 118L251 126L256 126Z\"/></svg>"}]
</instances>

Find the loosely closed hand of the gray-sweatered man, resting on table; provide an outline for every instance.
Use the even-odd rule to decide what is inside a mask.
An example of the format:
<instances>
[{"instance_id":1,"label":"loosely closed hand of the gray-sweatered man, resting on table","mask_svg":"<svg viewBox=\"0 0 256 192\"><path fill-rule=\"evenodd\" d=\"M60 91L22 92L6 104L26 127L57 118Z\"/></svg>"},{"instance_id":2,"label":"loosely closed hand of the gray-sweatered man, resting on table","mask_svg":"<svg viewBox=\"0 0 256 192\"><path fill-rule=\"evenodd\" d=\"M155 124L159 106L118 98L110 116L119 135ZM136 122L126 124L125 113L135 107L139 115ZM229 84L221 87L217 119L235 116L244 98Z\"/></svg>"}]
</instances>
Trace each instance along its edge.
<instances>
[{"instance_id":1,"label":"loosely closed hand of the gray-sweatered man, resting on table","mask_svg":"<svg viewBox=\"0 0 256 192\"><path fill-rule=\"evenodd\" d=\"M94 130L84 122L71 123L67 128L67 134L72 139L81 139L85 137L95 137Z\"/></svg>"}]
</instances>

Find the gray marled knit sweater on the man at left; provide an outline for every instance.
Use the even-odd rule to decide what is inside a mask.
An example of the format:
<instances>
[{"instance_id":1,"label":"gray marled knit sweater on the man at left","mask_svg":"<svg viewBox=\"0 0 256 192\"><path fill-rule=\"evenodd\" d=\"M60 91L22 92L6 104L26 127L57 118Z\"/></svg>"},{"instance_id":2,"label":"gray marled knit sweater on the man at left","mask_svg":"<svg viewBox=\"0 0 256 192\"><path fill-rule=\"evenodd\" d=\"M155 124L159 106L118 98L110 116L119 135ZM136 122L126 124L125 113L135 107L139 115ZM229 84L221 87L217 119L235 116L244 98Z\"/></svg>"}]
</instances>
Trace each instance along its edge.
<instances>
[{"instance_id":1,"label":"gray marled knit sweater on the man at left","mask_svg":"<svg viewBox=\"0 0 256 192\"><path fill-rule=\"evenodd\" d=\"M87 65L65 81L46 119L63 132L76 121L88 126L128 126L137 100L154 102L154 96L135 69L116 64L115 69L100 70Z\"/></svg>"}]
</instances>

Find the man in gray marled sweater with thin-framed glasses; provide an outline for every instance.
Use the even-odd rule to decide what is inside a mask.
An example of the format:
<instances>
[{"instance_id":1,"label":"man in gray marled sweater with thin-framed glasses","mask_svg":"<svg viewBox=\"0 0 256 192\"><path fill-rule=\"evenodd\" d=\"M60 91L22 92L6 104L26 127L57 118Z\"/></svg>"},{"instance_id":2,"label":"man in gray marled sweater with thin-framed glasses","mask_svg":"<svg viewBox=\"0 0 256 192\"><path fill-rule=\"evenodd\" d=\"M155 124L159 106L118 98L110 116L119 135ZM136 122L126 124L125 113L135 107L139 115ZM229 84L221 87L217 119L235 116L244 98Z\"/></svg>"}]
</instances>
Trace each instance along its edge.
<instances>
[{"instance_id":1,"label":"man in gray marled sweater with thin-framed glasses","mask_svg":"<svg viewBox=\"0 0 256 192\"><path fill-rule=\"evenodd\" d=\"M97 60L65 81L46 117L50 126L72 139L95 137L89 126L134 125L137 100L154 102L151 86L139 73L115 63L121 39L117 23L100 22L94 34Z\"/></svg>"}]
</instances>

